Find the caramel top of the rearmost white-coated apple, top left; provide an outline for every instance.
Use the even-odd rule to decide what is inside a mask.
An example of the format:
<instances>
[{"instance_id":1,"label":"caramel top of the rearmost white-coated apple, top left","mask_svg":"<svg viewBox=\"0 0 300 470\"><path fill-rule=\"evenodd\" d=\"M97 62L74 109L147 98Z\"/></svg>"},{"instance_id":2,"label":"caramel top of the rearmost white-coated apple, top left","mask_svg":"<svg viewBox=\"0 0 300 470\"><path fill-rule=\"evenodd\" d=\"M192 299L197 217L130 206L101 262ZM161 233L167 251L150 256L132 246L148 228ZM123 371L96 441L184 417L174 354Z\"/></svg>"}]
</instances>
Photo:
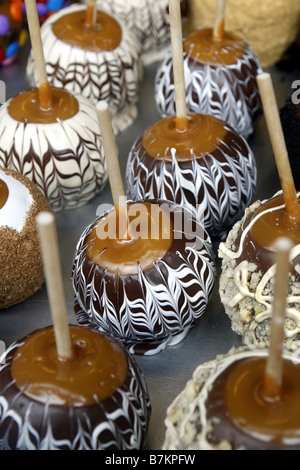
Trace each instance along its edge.
<instances>
[{"instance_id":1,"label":"caramel top of the rearmost white-coated apple, top left","mask_svg":"<svg viewBox=\"0 0 300 470\"><path fill-rule=\"evenodd\" d=\"M53 23L52 31L61 41L93 52L112 51L122 40L121 26L103 11L97 11L94 27L86 22L83 9L62 15Z\"/></svg>"}]
</instances>

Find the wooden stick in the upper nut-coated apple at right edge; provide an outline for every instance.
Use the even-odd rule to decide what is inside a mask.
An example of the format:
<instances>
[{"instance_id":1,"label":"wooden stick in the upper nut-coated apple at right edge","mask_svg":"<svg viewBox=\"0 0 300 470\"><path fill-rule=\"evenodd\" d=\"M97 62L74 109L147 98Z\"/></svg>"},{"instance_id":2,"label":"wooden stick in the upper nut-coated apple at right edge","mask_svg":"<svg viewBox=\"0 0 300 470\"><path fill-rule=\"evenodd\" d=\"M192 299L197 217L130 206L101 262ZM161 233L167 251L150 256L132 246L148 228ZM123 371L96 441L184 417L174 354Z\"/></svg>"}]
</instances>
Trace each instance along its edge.
<instances>
[{"instance_id":1,"label":"wooden stick in the upper nut-coated apple at right edge","mask_svg":"<svg viewBox=\"0 0 300 470\"><path fill-rule=\"evenodd\" d=\"M258 75L257 83L283 191L286 211L291 219L299 222L300 206L270 74L262 73Z\"/></svg>"}]
</instances>

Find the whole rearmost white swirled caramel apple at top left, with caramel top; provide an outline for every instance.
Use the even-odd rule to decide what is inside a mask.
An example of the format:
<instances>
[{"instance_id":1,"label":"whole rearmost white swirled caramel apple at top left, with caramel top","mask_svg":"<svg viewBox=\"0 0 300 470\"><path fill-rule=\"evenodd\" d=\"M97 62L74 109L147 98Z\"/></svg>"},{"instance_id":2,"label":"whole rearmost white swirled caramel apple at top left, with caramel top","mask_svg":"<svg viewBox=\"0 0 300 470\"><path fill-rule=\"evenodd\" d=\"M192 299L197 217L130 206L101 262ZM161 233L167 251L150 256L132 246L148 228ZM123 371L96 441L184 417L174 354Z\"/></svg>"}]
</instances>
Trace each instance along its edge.
<instances>
[{"instance_id":1,"label":"whole rearmost white swirled caramel apple at top left, with caramel top","mask_svg":"<svg viewBox=\"0 0 300 470\"><path fill-rule=\"evenodd\" d=\"M87 23L85 5L72 5L51 15L41 27L45 66L51 86L78 93L96 104L108 102L115 133L137 116L143 75L135 36L119 20L97 10ZM36 85L33 54L27 77Z\"/></svg>"}]
</instances>

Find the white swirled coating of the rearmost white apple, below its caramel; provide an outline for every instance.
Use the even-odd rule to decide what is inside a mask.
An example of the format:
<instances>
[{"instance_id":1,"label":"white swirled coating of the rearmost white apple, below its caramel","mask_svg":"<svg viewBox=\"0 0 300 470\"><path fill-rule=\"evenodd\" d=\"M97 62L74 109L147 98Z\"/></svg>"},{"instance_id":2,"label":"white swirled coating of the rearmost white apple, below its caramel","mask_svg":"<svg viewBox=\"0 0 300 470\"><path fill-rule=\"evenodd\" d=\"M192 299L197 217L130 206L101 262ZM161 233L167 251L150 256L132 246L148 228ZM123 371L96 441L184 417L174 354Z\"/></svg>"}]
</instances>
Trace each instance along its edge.
<instances>
[{"instance_id":1,"label":"white swirled coating of the rearmost white apple, below its caramel","mask_svg":"<svg viewBox=\"0 0 300 470\"><path fill-rule=\"evenodd\" d=\"M51 15L41 27L46 72L51 86L80 94L94 104L107 101L115 133L125 130L137 116L139 87L143 77L140 46L129 29L120 24L122 40L112 51L94 52L58 39L52 24L61 16L85 9L72 5ZM37 86L32 51L27 78Z\"/></svg>"}]
</instances>

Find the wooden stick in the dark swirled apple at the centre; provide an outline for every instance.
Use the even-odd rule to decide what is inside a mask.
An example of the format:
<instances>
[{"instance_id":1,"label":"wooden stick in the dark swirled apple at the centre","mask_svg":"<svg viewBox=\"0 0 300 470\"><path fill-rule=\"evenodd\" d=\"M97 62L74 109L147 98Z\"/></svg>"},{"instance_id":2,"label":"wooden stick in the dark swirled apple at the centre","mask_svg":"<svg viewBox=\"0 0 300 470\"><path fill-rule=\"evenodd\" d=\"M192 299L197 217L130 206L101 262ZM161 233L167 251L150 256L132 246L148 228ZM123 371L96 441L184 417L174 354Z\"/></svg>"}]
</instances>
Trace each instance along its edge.
<instances>
[{"instance_id":1,"label":"wooden stick in the dark swirled apple at the centre","mask_svg":"<svg viewBox=\"0 0 300 470\"><path fill-rule=\"evenodd\" d=\"M96 105L96 110L114 206L119 208L119 238L126 239L128 235L127 199L124 192L109 107L106 101L99 101Z\"/></svg>"}]
</instances>

